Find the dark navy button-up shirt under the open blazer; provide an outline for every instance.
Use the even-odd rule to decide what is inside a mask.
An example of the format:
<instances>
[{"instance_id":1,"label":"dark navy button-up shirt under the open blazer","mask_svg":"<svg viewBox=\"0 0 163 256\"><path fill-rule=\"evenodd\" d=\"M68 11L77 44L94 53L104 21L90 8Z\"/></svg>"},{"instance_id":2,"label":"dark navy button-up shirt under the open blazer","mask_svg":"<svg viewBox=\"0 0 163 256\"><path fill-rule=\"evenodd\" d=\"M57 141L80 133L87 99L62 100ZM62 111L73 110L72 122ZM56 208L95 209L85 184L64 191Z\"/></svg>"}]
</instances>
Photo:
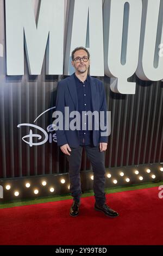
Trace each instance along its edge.
<instances>
[{"instance_id":1,"label":"dark navy button-up shirt under the open blazer","mask_svg":"<svg viewBox=\"0 0 163 256\"><path fill-rule=\"evenodd\" d=\"M80 81L74 73L76 81L77 95L78 95L78 111L80 113L80 145L93 145L93 133L92 130L88 130L88 117L84 115L83 124L86 130L82 130L82 111L92 111L91 107L91 86L90 78L87 78L84 82ZM86 121L85 121L86 120Z\"/></svg>"}]
</instances>

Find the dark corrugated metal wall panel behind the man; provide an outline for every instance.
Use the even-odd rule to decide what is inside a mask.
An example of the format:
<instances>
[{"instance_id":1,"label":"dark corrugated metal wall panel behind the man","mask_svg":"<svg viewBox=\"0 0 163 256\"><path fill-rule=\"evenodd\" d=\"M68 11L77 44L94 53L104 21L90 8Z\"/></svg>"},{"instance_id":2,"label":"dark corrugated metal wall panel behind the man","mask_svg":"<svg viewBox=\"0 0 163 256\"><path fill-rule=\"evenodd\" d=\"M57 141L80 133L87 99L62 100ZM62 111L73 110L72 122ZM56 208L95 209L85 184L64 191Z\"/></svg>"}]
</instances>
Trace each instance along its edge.
<instances>
[{"instance_id":1,"label":"dark corrugated metal wall panel behind the man","mask_svg":"<svg viewBox=\"0 0 163 256\"><path fill-rule=\"evenodd\" d=\"M3 8L4 2L0 0L0 44L5 46ZM24 76L5 76L3 49L3 57L0 57L0 178L65 173L68 163L57 143L48 141L29 147L22 141L22 137L29 134L29 127L17 127L21 123L32 124L42 112L55 106L57 83L64 77L46 76L45 60L40 76L29 75L26 58L24 66ZM134 75L129 81L136 82L135 95L122 95L111 92L109 77L98 78L104 82L108 111L111 111L105 167L162 162L163 83L141 81ZM52 123L52 112L35 124L47 130ZM81 169L91 168L83 150Z\"/></svg>"}]
</instances>

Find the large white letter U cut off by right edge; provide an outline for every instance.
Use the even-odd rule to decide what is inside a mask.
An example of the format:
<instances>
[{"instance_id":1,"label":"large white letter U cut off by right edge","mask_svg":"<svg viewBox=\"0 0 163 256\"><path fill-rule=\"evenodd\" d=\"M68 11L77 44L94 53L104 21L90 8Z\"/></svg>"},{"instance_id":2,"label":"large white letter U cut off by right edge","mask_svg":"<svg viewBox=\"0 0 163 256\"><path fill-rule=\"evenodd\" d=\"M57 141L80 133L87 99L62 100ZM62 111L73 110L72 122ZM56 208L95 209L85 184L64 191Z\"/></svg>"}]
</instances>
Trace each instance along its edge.
<instances>
[{"instance_id":1,"label":"large white letter U cut off by right edge","mask_svg":"<svg viewBox=\"0 0 163 256\"><path fill-rule=\"evenodd\" d=\"M136 75L142 80L159 81L163 78L163 58L159 45L163 43L163 1L143 0L143 20L140 56Z\"/></svg>"}]
</instances>

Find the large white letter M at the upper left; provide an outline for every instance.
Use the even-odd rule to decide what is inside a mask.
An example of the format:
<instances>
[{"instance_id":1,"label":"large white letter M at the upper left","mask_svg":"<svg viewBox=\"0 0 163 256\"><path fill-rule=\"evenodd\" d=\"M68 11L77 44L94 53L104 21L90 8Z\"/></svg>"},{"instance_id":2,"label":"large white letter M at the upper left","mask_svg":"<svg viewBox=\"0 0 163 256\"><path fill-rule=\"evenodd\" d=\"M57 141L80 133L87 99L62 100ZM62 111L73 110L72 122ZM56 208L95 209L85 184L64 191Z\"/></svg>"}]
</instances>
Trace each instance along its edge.
<instances>
[{"instance_id":1,"label":"large white letter M at the upper left","mask_svg":"<svg viewBox=\"0 0 163 256\"><path fill-rule=\"evenodd\" d=\"M64 48L64 0L42 0L37 26L31 0L6 0L7 75L24 75L24 42L30 75L60 75ZM47 44L48 42L48 44Z\"/></svg>"}]
</instances>

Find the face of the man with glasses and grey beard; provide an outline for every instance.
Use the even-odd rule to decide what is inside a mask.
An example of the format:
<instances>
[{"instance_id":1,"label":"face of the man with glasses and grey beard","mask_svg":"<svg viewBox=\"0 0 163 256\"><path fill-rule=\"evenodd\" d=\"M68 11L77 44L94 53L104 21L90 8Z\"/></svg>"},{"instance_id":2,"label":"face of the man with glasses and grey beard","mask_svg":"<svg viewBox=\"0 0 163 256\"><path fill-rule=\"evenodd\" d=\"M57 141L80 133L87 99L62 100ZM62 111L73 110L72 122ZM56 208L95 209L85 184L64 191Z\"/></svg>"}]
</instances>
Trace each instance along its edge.
<instances>
[{"instance_id":1,"label":"face of the man with glasses and grey beard","mask_svg":"<svg viewBox=\"0 0 163 256\"><path fill-rule=\"evenodd\" d=\"M87 52L84 50L78 50L74 53L74 59L76 58L83 58L83 57L88 57L87 56ZM83 59L80 60L79 63L77 63L75 60L72 60L72 65L74 66L74 68L80 73L84 73L87 71L87 69L89 68L90 65L90 60L88 60L87 62L84 62Z\"/></svg>"}]
</instances>

